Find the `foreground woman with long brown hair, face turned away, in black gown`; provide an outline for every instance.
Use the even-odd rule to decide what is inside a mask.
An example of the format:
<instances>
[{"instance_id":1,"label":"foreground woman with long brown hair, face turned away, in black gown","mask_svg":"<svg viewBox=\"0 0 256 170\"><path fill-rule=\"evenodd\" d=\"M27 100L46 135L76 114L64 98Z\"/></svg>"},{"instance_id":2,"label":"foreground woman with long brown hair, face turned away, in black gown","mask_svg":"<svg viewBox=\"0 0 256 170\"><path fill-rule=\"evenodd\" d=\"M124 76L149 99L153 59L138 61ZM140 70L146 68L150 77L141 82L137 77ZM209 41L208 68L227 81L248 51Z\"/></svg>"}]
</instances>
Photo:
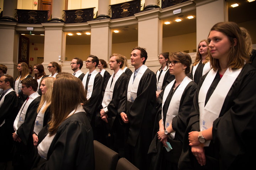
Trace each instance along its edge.
<instances>
[{"instance_id":1,"label":"foreground woman with long brown hair, face turned away, in black gown","mask_svg":"<svg viewBox=\"0 0 256 170\"><path fill-rule=\"evenodd\" d=\"M81 106L86 102L80 79L67 75L54 81L49 134L37 147L46 162L38 169L94 169L93 132Z\"/></svg>"}]
</instances>

